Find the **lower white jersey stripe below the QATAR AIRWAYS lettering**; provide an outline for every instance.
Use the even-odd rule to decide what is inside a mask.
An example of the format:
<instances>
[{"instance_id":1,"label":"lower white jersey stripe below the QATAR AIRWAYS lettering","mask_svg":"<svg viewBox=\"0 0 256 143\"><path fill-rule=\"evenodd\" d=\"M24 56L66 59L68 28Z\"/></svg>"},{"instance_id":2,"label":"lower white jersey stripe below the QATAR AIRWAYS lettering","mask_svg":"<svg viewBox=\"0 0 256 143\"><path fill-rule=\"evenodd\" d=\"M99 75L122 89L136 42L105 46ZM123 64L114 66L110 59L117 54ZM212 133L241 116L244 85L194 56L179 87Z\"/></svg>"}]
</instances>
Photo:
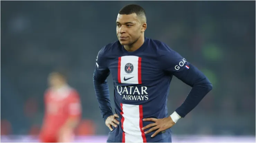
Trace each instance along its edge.
<instances>
[{"instance_id":1,"label":"lower white jersey stripe below the QATAR AIRWAYS lettering","mask_svg":"<svg viewBox=\"0 0 256 143\"><path fill-rule=\"evenodd\" d=\"M143 142L140 130L139 105L122 104L122 116L125 118L123 130L125 132L125 142Z\"/></svg>"}]
</instances>

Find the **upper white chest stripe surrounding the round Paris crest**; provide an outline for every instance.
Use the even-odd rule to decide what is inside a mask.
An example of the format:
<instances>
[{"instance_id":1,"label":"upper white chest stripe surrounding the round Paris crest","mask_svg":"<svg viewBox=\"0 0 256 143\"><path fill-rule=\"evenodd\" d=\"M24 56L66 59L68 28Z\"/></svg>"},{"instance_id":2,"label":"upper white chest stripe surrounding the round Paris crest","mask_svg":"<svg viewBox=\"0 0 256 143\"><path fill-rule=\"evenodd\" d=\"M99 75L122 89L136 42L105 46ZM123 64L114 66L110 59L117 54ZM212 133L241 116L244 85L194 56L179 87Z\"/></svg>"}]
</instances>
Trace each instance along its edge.
<instances>
[{"instance_id":1,"label":"upper white chest stripe surrounding the round Paris crest","mask_svg":"<svg viewBox=\"0 0 256 143\"><path fill-rule=\"evenodd\" d=\"M124 84L138 84L138 60L137 56L122 56L121 57L121 68L120 68L120 78L121 83ZM130 74L125 72L125 65L131 63L133 65L133 71ZM131 78L132 77L132 78ZM129 80L124 80L124 78L131 78Z\"/></svg>"}]
</instances>

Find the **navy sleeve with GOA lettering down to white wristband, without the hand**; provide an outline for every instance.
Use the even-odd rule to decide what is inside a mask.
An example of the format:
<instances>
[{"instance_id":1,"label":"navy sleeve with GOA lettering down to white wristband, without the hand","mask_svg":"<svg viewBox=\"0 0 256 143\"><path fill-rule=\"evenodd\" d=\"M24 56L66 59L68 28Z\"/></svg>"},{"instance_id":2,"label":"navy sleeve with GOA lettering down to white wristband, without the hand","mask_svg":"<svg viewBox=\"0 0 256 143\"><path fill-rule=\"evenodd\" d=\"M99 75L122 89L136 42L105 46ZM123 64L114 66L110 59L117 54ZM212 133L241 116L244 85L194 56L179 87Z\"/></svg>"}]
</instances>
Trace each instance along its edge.
<instances>
[{"instance_id":1,"label":"navy sleeve with GOA lettering down to white wristband, without the hand","mask_svg":"<svg viewBox=\"0 0 256 143\"><path fill-rule=\"evenodd\" d=\"M186 114L198 105L203 97L212 89L212 84L198 68L187 62L179 53L170 48L162 55L161 59L165 61L162 67L166 73L176 76L192 87L185 101L171 115L174 122L176 122L179 118L184 118Z\"/></svg>"}]
</instances>

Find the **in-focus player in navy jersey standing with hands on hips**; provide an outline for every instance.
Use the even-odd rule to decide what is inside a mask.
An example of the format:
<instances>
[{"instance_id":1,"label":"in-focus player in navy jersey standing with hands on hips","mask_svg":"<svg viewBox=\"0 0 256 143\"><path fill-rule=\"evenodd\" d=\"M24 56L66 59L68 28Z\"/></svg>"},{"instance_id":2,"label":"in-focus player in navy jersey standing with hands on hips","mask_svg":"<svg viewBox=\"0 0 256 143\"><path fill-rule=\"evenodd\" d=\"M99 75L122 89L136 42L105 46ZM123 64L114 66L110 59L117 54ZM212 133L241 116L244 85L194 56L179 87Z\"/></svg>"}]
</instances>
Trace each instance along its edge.
<instances>
[{"instance_id":1,"label":"in-focus player in navy jersey standing with hands on hips","mask_svg":"<svg viewBox=\"0 0 256 143\"><path fill-rule=\"evenodd\" d=\"M136 4L119 11L118 41L98 53L93 75L102 117L111 130L107 142L171 142L170 128L212 89L205 75L165 43L144 36L146 15ZM113 114L107 77L114 84ZM192 87L171 115L167 97L172 77Z\"/></svg>"}]
</instances>

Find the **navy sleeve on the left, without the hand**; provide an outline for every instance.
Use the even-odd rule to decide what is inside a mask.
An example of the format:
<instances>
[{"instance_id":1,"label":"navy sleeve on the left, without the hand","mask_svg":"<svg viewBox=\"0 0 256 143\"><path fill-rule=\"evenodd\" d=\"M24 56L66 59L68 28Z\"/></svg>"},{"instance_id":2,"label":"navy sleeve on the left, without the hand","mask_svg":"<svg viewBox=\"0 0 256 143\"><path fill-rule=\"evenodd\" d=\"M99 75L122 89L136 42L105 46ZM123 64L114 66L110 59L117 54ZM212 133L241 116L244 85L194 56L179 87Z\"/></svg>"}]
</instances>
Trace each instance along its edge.
<instances>
[{"instance_id":1,"label":"navy sleeve on the left, without the hand","mask_svg":"<svg viewBox=\"0 0 256 143\"><path fill-rule=\"evenodd\" d=\"M103 47L96 58L96 66L93 74L93 85L97 100L99 102L100 111L104 121L113 115L112 108L110 105L109 87L107 83L107 77L110 74L107 65L107 59L104 57Z\"/></svg>"}]
</instances>

